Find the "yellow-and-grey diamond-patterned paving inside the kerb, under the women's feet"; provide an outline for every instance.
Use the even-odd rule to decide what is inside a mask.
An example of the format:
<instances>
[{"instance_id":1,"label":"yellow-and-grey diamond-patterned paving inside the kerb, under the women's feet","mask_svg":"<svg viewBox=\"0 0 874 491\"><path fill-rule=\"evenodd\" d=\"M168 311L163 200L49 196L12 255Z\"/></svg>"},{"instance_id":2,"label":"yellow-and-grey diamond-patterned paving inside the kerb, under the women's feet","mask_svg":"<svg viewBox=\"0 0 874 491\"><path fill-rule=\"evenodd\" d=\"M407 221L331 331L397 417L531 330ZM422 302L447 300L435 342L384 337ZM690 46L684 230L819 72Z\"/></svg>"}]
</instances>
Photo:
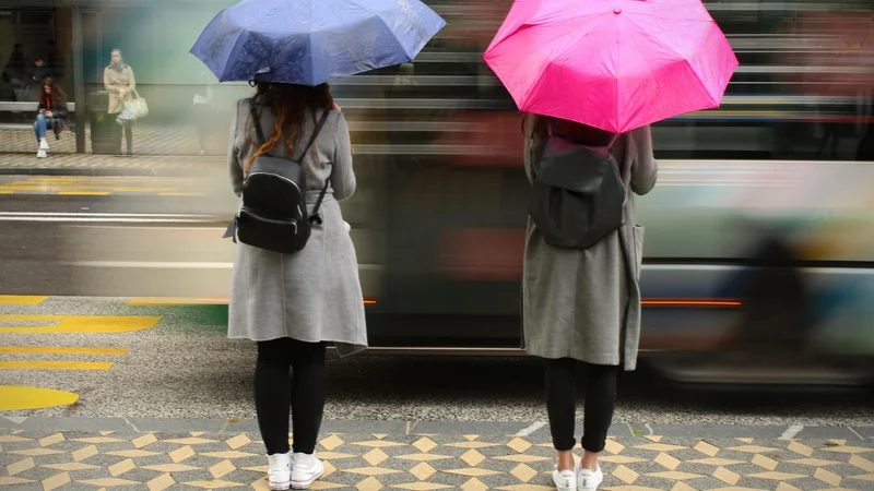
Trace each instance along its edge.
<instances>
[{"instance_id":1,"label":"yellow-and-grey diamond-patterned paving inside the kerb, under the women's feet","mask_svg":"<svg viewBox=\"0 0 874 491\"><path fill-rule=\"evenodd\" d=\"M83 436L80 431L67 438L63 432L25 431L5 436L0 432L3 451L14 455L7 459L5 468L0 467L0 484L36 483L43 489L70 483L103 488L139 484L150 490L177 484L267 489L265 457L257 435L106 433ZM547 436L468 436L326 435L317 448L317 455L324 459L326 474L312 489L553 489L553 450L544 441ZM709 457L712 451L696 439L611 441L617 452L613 457L625 459L602 459L604 490L863 490L874 482L874 474L867 470L869 457L874 454L870 445L804 441L813 457L802 464L788 448L790 442L784 441L754 440L737 451L732 450L739 446L736 440L707 440L708 445L732 458ZM473 442L486 446L465 445ZM665 446L652 448L653 443ZM761 448L771 450L759 452Z\"/></svg>"}]
</instances>

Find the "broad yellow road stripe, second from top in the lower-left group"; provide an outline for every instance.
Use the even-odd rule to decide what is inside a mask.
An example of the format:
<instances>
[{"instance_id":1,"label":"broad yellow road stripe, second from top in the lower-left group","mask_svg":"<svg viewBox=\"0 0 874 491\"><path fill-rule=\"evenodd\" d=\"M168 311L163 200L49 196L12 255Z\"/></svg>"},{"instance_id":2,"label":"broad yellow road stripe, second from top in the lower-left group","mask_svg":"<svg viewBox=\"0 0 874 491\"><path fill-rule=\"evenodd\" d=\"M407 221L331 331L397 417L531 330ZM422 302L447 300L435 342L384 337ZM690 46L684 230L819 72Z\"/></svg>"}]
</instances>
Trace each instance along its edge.
<instances>
[{"instance_id":1,"label":"broad yellow road stripe, second from top in the lower-left group","mask_svg":"<svg viewBox=\"0 0 874 491\"><path fill-rule=\"evenodd\" d=\"M97 316L97 315L0 315L0 323L10 322L50 322L38 326L3 326L4 334L37 333L130 333L154 327L161 318L157 316Z\"/></svg>"}]
</instances>

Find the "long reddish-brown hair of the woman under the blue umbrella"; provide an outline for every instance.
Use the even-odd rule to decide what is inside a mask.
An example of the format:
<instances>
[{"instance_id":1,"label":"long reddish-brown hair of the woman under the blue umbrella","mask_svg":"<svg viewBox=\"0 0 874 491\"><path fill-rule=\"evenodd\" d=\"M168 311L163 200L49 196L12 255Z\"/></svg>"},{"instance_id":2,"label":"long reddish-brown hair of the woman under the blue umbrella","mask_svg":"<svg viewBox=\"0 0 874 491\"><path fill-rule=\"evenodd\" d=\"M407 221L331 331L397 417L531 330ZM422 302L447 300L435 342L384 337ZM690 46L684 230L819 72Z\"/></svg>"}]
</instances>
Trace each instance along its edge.
<instances>
[{"instance_id":1,"label":"long reddish-brown hair of the woman under the blue umbrella","mask_svg":"<svg viewBox=\"0 0 874 491\"><path fill-rule=\"evenodd\" d=\"M259 115L261 113L260 111L270 110L276 118L276 122L273 124L273 131L271 131L270 136L267 136L267 142L259 146L258 151L246 163L247 172L256 157L272 152L283 140L283 135L285 146L288 148L288 155L292 155L300 142L307 113L311 115L312 122L316 123L316 115L320 110L331 110L334 105L331 88L328 84L311 87L308 85L259 82L256 87L257 95L255 100L258 105ZM252 124L256 123L259 123L259 121L252 122ZM255 134L255 128L247 131L247 134L251 137Z\"/></svg>"}]
</instances>

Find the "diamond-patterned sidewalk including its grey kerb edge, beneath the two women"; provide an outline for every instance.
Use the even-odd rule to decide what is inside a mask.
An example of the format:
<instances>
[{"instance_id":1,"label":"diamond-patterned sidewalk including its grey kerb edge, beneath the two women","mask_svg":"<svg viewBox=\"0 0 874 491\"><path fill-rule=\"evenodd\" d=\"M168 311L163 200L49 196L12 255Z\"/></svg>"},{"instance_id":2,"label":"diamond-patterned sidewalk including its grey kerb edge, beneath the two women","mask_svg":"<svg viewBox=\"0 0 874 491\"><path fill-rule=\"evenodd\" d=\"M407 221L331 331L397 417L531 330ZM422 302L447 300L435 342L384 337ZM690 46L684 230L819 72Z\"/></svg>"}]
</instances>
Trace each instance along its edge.
<instances>
[{"instance_id":1,"label":"diamond-patterned sidewalk including its grey kerb edge, beneath the two women","mask_svg":"<svg viewBox=\"0 0 874 491\"><path fill-rule=\"evenodd\" d=\"M268 489L255 421L0 418L2 426L4 490ZM326 476L312 489L553 489L542 423L326 421L322 430ZM874 489L874 429L619 426L611 434L602 490Z\"/></svg>"}]
</instances>

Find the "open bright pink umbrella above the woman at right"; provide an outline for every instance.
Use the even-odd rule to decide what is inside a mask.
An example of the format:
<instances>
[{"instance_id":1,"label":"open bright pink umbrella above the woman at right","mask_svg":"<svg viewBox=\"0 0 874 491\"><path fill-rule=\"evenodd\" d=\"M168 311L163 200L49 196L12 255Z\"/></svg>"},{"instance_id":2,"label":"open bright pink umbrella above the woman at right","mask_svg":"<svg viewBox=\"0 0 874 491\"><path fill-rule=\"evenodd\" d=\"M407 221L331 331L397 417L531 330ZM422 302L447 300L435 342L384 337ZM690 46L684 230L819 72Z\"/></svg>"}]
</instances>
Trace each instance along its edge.
<instances>
[{"instance_id":1,"label":"open bright pink umbrella above the woman at right","mask_svg":"<svg viewBox=\"0 0 874 491\"><path fill-rule=\"evenodd\" d=\"M616 133L718 107L737 68L699 0L517 0L483 58L521 111Z\"/></svg>"}]
</instances>

